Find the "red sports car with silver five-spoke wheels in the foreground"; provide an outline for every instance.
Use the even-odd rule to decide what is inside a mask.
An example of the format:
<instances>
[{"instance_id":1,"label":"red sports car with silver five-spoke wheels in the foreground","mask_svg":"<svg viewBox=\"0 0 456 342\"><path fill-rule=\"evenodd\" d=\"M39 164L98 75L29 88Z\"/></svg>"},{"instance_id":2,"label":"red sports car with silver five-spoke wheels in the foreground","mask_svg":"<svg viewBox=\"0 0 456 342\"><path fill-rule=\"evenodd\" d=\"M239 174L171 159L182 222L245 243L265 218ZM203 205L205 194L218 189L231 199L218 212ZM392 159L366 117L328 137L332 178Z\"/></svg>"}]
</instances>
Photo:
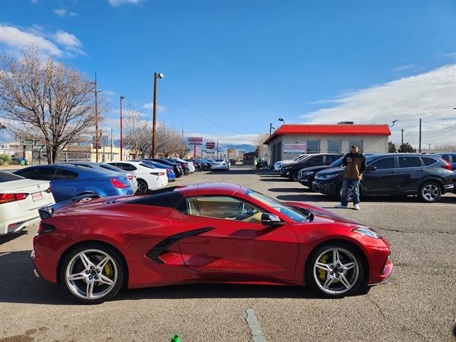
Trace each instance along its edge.
<instances>
[{"instance_id":1,"label":"red sports car with silver five-spoke wheels in the foreground","mask_svg":"<svg viewBox=\"0 0 456 342\"><path fill-rule=\"evenodd\" d=\"M41 210L35 274L83 303L167 284L307 284L341 297L390 279L389 242L300 202L231 184Z\"/></svg>"}]
</instances>

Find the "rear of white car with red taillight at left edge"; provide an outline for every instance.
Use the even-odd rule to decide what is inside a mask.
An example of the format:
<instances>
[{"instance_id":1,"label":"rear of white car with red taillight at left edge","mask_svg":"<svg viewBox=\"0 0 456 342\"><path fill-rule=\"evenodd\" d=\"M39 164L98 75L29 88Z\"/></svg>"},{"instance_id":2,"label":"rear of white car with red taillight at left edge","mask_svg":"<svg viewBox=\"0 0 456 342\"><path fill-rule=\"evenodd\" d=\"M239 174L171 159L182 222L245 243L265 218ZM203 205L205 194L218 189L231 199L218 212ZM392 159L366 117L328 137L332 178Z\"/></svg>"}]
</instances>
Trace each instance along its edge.
<instances>
[{"instance_id":1,"label":"rear of white car with red taillight at left edge","mask_svg":"<svg viewBox=\"0 0 456 342\"><path fill-rule=\"evenodd\" d=\"M28 180L0 171L0 235L34 227L38 209L56 204L46 180Z\"/></svg>"}]
</instances>

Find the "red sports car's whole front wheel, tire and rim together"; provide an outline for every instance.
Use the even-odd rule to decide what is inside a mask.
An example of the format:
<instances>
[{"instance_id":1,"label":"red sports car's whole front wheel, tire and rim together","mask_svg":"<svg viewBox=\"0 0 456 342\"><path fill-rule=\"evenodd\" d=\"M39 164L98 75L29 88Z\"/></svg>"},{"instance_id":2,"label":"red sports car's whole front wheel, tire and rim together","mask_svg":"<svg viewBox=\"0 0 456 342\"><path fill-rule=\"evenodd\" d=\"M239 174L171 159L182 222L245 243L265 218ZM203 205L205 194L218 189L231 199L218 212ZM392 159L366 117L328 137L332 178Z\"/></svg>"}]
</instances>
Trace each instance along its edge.
<instances>
[{"instance_id":1,"label":"red sports car's whole front wheel, tire and rim together","mask_svg":"<svg viewBox=\"0 0 456 342\"><path fill-rule=\"evenodd\" d=\"M306 266L306 284L330 298L355 293L364 279L364 266L356 249L331 243L316 249Z\"/></svg>"}]
</instances>

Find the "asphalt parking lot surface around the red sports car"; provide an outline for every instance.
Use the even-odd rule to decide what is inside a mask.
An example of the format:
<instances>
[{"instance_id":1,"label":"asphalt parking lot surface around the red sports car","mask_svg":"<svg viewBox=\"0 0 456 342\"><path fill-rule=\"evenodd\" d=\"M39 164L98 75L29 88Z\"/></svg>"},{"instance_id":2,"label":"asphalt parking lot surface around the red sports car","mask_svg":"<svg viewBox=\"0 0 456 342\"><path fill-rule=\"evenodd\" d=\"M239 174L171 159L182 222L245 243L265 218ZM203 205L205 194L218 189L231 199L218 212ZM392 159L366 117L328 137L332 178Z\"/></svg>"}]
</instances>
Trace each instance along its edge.
<instances>
[{"instance_id":1,"label":"asphalt parking lot surface around the red sports car","mask_svg":"<svg viewBox=\"0 0 456 342\"><path fill-rule=\"evenodd\" d=\"M280 200L336 204L249 167L198 172L174 184L194 182L232 182ZM0 341L170 341L171 333L182 342L455 341L456 196L435 204L368 197L360 212L333 210L390 240L395 270L389 284L345 299L320 299L309 289L287 286L167 286L123 291L113 301L83 306L33 276L36 229L0 237ZM246 310L256 317L253 331Z\"/></svg>"}]
</instances>

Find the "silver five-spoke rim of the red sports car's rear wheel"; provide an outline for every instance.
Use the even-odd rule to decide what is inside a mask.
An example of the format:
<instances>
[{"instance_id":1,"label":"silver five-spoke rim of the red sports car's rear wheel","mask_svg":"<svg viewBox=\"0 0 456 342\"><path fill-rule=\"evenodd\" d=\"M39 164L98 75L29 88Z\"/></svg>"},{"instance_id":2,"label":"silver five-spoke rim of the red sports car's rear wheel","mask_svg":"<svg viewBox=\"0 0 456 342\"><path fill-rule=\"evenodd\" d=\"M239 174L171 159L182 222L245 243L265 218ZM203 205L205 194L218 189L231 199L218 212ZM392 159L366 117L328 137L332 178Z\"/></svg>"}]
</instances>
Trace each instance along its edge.
<instances>
[{"instance_id":1,"label":"silver five-spoke rim of the red sports car's rear wheel","mask_svg":"<svg viewBox=\"0 0 456 342\"><path fill-rule=\"evenodd\" d=\"M118 269L114 260L99 249L86 249L76 254L65 271L68 289L82 299L99 299L116 284Z\"/></svg>"}]
</instances>

